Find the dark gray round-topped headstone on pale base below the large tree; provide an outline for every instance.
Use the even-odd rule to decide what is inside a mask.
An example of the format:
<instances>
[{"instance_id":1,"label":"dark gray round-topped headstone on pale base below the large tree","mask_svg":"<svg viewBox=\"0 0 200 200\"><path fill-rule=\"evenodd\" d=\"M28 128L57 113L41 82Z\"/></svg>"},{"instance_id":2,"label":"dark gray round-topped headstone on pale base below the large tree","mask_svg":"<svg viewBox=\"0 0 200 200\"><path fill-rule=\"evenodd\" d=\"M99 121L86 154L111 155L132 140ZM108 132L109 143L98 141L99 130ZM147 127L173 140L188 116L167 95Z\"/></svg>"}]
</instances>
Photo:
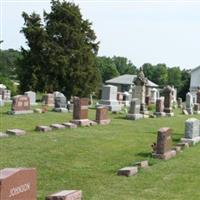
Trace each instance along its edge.
<instances>
[{"instance_id":1,"label":"dark gray round-topped headstone on pale base below the large tree","mask_svg":"<svg viewBox=\"0 0 200 200\"><path fill-rule=\"evenodd\" d=\"M68 112L67 99L62 93L56 95L55 106L53 110L56 112Z\"/></svg>"}]
</instances>

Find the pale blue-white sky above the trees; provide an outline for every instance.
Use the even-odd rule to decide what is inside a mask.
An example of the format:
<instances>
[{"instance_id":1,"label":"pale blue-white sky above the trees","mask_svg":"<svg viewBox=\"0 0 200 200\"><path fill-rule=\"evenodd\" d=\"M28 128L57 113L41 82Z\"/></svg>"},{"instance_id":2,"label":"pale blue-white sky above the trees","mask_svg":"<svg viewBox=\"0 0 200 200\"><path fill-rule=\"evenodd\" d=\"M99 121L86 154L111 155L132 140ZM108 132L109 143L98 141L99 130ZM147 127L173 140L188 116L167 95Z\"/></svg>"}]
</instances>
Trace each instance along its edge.
<instances>
[{"instance_id":1,"label":"pale blue-white sky above the trees","mask_svg":"<svg viewBox=\"0 0 200 200\"><path fill-rule=\"evenodd\" d=\"M99 56L124 56L137 67L166 63L182 69L200 65L200 0L74 0L92 22ZM23 11L50 11L49 0L0 0L2 49L26 47Z\"/></svg>"}]
</instances>

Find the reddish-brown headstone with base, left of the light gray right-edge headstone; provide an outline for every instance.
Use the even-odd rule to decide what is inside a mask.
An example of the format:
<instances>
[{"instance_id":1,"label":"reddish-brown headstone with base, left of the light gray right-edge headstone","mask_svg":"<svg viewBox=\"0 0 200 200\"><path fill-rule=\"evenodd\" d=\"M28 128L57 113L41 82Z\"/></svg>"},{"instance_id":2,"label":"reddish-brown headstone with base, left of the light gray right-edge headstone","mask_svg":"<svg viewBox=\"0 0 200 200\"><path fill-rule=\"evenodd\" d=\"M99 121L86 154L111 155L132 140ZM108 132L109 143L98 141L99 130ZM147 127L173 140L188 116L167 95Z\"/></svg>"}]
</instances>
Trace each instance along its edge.
<instances>
[{"instance_id":1,"label":"reddish-brown headstone with base, left of the light gray right-edge headstone","mask_svg":"<svg viewBox=\"0 0 200 200\"><path fill-rule=\"evenodd\" d=\"M168 127L158 130L156 152L153 157L168 160L176 155L176 151L172 150L171 129Z\"/></svg>"}]
</instances>

